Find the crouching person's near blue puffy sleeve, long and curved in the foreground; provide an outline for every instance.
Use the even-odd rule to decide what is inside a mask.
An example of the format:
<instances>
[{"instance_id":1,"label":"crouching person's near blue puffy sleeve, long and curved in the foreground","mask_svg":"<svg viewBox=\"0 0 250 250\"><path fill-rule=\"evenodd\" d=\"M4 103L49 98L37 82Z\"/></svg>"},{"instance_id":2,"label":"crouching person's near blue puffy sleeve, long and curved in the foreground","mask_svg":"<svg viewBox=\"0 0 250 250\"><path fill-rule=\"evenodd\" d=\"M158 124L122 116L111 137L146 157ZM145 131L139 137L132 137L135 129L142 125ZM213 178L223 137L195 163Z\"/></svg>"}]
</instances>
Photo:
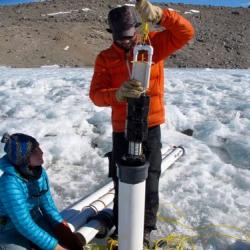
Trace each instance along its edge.
<instances>
[{"instance_id":1,"label":"crouching person's near blue puffy sleeve, long and curved in the foreground","mask_svg":"<svg viewBox=\"0 0 250 250\"><path fill-rule=\"evenodd\" d=\"M2 179L0 193L2 204L17 231L41 249L54 250L58 241L40 228L30 215L25 191L14 176Z\"/></svg>"}]
</instances>

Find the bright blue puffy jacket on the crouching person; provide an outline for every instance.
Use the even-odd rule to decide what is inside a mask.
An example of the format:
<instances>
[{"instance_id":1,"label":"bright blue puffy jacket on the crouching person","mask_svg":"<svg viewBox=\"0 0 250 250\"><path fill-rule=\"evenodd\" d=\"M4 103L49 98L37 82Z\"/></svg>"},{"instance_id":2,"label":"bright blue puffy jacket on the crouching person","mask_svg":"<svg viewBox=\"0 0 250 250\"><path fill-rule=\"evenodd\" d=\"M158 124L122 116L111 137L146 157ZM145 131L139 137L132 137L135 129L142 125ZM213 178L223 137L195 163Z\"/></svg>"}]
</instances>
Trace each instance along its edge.
<instances>
[{"instance_id":1,"label":"bright blue puffy jacket on the crouching person","mask_svg":"<svg viewBox=\"0 0 250 250\"><path fill-rule=\"evenodd\" d=\"M32 210L40 209L53 227L62 222L49 190L48 177L42 169L38 180L22 178L4 156L0 159L0 217L7 217L6 230L16 229L41 249L51 250L58 241L36 224ZM1 233L1 232L0 232Z\"/></svg>"}]
</instances>

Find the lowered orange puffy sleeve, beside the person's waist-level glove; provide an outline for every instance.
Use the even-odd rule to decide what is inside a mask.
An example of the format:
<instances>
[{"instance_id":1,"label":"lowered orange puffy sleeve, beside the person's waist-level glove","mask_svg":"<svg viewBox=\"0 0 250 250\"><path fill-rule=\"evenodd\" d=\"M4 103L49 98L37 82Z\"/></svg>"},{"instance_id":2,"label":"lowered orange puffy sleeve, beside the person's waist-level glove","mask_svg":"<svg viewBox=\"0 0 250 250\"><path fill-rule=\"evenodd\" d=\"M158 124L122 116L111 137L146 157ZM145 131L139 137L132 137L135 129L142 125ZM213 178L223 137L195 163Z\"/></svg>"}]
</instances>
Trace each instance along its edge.
<instances>
[{"instance_id":1,"label":"lowered orange puffy sleeve, beside the person's waist-level glove","mask_svg":"<svg viewBox=\"0 0 250 250\"><path fill-rule=\"evenodd\" d=\"M111 82L111 76L107 69L104 56L99 54L96 58L94 75L89 92L89 97L95 105L104 107L118 103L115 97L117 88L112 88Z\"/></svg>"}]
</instances>

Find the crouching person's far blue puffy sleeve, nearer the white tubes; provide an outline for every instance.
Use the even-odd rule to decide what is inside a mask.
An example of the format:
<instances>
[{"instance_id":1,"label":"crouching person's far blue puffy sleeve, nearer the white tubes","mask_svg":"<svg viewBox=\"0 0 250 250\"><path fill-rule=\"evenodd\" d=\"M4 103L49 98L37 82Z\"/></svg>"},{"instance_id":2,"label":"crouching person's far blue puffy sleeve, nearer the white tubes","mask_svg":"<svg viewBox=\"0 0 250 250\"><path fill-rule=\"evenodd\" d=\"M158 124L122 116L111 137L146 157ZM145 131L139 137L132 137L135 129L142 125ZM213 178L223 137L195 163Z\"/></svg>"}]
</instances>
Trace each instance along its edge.
<instances>
[{"instance_id":1,"label":"crouching person's far blue puffy sleeve, nearer the white tubes","mask_svg":"<svg viewBox=\"0 0 250 250\"><path fill-rule=\"evenodd\" d=\"M44 182L46 182L45 185L47 186L48 191L40 198L40 209L42 210L43 214L47 217L51 225L55 226L56 224L62 222L63 218L58 212L54 200L52 199L49 188L49 180L45 170L43 170L43 178Z\"/></svg>"}]
</instances>

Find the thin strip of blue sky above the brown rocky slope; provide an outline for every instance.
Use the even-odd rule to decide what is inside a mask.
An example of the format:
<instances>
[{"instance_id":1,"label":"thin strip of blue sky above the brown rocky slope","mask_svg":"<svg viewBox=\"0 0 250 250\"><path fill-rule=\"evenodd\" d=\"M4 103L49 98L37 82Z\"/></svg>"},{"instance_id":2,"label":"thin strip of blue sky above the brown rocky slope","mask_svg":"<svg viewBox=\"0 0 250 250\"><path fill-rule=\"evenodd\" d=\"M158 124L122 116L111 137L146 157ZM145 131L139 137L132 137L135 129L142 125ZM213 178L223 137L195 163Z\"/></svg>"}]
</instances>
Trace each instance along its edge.
<instances>
[{"instance_id":1,"label":"thin strip of blue sky above the brown rocky slope","mask_svg":"<svg viewBox=\"0 0 250 250\"><path fill-rule=\"evenodd\" d=\"M36 2L39 0L34 0ZM30 0L0 0L1 4L17 4L17 3L28 3L31 2ZM205 4L205 5L224 5L224 6L232 6L232 7L247 7L250 5L249 0L171 0L171 1L164 1L164 0L154 0L152 2L172 2L172 3L190 3L190 4Z\"/></svg>"}]
</instances>

